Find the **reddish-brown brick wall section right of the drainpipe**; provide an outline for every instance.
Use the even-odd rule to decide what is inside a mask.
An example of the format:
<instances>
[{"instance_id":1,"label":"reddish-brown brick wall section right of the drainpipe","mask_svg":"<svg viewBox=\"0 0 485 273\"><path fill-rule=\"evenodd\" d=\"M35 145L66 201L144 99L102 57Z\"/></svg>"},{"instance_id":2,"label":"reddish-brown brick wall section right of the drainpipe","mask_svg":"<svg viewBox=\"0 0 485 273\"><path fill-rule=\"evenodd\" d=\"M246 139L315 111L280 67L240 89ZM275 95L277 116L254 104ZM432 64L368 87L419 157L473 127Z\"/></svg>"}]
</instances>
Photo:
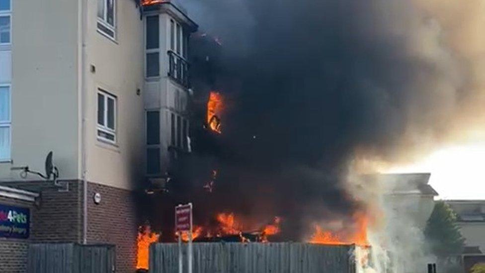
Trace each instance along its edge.
<instances>
[{"instance_id":1,"label":"reddish-brown brick wall section right of the drainpipe","mask_svg":"<svg viewBox=\"0 0 485 273\"><path fill-rule=\"evenodd\" d=\"M95 204L94 193L101 194ZM88 183L87 241L116 245L116 272L134 273L136 267L137 218L132 191Z\"/></svg>"}]
</instances>

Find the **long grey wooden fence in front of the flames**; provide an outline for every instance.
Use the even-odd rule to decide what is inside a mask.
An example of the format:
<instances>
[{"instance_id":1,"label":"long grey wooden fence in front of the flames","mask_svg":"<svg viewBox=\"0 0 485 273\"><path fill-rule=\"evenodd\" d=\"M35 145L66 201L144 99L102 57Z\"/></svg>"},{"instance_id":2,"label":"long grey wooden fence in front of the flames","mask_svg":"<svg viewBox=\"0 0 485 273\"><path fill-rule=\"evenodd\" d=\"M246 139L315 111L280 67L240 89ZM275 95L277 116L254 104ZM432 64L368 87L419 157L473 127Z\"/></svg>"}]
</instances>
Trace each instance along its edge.
<instances>
[{"instance_id":1,"label":"long grey wooden fence in front of the flames","mask_svg":"<svg viewBox=\"0 0 485 273\"><path fill-rule=\"evenodd\" d=\"M355 273L355 245L194 243L194 273ZM187 272L187 244L183 247ZM177 273L178 245L152 244L150 273Z\"/></svg>"}]
</instances>

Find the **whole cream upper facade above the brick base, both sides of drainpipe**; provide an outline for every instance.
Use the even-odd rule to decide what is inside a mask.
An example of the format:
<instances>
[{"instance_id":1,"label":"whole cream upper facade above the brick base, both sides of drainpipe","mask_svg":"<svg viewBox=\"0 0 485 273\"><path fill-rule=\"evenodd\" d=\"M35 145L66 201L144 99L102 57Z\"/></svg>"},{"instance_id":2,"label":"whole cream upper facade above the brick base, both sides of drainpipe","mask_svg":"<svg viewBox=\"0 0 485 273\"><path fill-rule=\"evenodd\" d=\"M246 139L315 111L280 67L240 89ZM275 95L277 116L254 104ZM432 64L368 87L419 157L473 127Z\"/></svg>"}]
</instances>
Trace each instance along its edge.
<instances>
[{"instance_id":1,"label":"whole cream upper facade above the brick base, both sides of drainpipe","mask_svg":"<svg viewBox=\"0 0 485 273\"><path fill-rule=\"evenodd\" d=\"M188 101L188 90L166 76L166 21L172 16L187 29L188 23L191 29L195 24L170 3L156 12L161 18L161 76L148 79L146 17L136 1L7 1L11 8L0 10L0 22L7 15L11 22L9 43L0 44L0 99L3 87L8 87L9 98L8 104L0 104L0 117L7 110L9 115L0 120L0 135L8 126L11 137L0 139L0 147L9 148L0 148L0 181L39 180L21 178L11 168L43 172L52 150L61 180L135 188L146 177L145 110L162 113L161 155L167 157L168 113L184 115ZM111 6L114 14L106 10ZM110 126L99 124L100 91L112 99L103 109L103 122ZM103 130L114 140L100 136Z\"/></svg>"}]
</instances>

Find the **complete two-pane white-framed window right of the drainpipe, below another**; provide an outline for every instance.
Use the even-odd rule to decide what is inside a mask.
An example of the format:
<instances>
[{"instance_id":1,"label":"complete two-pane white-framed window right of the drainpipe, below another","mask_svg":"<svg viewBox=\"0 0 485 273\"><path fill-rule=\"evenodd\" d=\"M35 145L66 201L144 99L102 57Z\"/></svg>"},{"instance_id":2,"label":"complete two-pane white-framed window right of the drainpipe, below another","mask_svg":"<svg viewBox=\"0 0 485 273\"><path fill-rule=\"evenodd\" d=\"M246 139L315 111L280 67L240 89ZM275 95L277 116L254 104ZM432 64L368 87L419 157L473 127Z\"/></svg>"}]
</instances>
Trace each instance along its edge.
<instances>
[{"instance_id":1,"label":"complete two-pane white-framed window right of the drainpipe, below another","mask_svg":"<svg viewBox=\"0 0 485 273\"><path fill-rule=\"evenodd\" d=\"M98 139L116 143L116 96L99 89L97 111Z\"/></svg>"}]
</instances>

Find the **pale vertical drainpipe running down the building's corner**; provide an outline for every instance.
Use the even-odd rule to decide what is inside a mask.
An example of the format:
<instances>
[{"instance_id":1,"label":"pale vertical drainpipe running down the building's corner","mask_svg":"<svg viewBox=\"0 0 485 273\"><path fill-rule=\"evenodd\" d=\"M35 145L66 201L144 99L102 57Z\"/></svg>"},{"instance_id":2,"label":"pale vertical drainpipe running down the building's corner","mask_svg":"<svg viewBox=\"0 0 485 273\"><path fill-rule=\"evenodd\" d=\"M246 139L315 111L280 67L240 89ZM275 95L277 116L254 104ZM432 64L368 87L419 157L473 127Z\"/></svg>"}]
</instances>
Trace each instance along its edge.
<instances>
[{"instance_id":1,"label":"pale vertical drainpipe running down the building's corner","mask_svg":"<svg viewBox=\"0 0 485 273\"><path fill-rule=\"evenodd\" d=\"M81 181L82 181L82 243L87 243L87 181L86 181L86 28L87 0L78 1L78 98L81 100Z\"/></svg>"}]
</instances>

